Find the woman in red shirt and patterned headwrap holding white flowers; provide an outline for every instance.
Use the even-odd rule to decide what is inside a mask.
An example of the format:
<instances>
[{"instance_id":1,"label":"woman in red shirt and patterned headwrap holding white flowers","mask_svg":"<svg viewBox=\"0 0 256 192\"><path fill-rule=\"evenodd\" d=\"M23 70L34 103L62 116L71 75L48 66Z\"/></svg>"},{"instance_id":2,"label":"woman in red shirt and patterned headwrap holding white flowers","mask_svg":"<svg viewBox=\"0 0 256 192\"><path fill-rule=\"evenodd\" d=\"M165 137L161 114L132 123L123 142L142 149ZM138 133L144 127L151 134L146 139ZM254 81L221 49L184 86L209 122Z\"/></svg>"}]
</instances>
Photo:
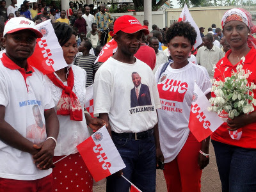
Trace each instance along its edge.
<instances>
[{"instance_id":1,"label":"woman in red shirt and patterned headwrap holding white flowers","mask_svg":"<svg viewBox=\"0 0 256 192\"><path fill-rule=\"evenodd\" d=\"M248 83L256 83L256 40L251 35L256 28L252 16L246 10L234 8L224 14L221 26L231 49L217 63L214 79L224 81L224 72L226 77L231 76L237 65L243 63L243 68L252 72ZM211 138L222 191L256 191L256 111L227 120Z\"/></svg>"}]
</instances>

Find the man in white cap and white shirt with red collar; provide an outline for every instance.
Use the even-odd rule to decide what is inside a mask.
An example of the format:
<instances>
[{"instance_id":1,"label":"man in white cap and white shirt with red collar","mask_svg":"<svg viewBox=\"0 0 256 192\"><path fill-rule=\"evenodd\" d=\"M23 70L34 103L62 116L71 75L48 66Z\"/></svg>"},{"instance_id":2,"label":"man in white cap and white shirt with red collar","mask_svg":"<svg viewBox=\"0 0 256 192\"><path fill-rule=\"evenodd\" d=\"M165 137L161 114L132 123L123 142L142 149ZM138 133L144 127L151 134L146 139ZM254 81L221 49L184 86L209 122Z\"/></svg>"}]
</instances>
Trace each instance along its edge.
<instances>
[{"instance_id":1,"label":"man in white cap and white shirt with red collar","mask_svg":"<svg viewBox=\"0 0 256 192\"><path fill-rule=\"evenodd\" d=\"M0 191L51 191L52 157L59 132L51 90L28 62L42 33L33 21L15 17L4 28L0 60ZM33 106L45 126L36 123ZM34 107L35 108L35 107Z\"/></svg>"}]
</instances>

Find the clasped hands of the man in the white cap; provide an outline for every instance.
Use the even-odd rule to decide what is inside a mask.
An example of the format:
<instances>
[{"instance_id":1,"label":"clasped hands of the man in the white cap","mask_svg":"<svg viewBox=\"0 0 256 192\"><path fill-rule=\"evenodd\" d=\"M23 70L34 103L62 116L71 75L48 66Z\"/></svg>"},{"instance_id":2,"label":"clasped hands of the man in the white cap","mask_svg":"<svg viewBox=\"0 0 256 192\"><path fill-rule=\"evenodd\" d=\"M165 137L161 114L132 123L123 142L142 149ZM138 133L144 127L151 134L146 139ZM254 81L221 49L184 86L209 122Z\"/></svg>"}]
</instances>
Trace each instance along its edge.
<instances>
[{"instance_id":1,"label":"clasped hands of the man in the white cap","mask_svg":"<svg viewBox=\"0 0 256 192\"><path fill-rule=\"evenodd\" d=\"M33 147L39 150L39 152L33 156L34 163L37 164L36 167L40 170L53 168L52 157L54 156L54 148L56 147L55 141L49 139Z\"/></svg>"}]
</instances>

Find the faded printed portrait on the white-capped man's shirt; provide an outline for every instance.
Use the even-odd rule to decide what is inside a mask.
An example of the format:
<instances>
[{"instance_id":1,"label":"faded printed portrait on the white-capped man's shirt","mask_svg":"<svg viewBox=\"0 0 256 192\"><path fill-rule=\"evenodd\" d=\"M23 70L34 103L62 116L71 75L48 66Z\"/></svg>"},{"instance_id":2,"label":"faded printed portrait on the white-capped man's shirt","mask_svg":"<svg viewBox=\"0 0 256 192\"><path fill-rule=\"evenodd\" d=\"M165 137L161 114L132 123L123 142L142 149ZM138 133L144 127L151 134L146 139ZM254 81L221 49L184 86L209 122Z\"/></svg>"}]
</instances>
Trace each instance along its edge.
<instances>
[{"instance_id":1,"label":"faded printed portrait on the white-capped man's shirt","mask_svg":"<svg viewBox=\"0 0 256 192\"><path fill-rule=\"evenodd\" d=\"M26 138L33 143L38 144L45 140L46 129L39 106L34 105L32 111L35 118L35 124L29 125L27 127Z\"/></svg>"}]
</instances>

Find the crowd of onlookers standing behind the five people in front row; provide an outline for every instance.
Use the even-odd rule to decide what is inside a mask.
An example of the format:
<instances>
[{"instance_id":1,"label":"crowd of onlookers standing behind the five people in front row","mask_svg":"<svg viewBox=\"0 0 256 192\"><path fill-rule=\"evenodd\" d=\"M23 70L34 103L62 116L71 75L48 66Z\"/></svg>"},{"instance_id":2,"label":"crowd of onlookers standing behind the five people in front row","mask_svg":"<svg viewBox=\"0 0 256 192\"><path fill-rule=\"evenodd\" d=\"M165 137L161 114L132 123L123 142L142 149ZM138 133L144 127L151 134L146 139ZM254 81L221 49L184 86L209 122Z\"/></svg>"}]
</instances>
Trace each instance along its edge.
<instances>
[{"instance_id":1,"label":"crowd of onlookers standing behind the five people in front row","mask_svg":"<svg viewBox=\"0 0 256 192\"><path fill-rule=\"evenodd\" d=\"M12 4L10 4L8 8L5 8L6 1L1 1L0 32L1 30L3 31L4 24L13 17L26 17L27 19L33 20L35 24L49 19L51 19L51 22L67 23L76 31L77 47L79 47L78 50L80 50L77 52L75 60L76 65L84 68L85 65L91 63L90 68L93 69L93 72L92 76L88 79L88 82L91 83L86 84L86 86L90 86L90 84L93 83L93 77L97 68L102 64L93 64L93 60L96 60L102 47L113 38L113 27L116 18L112 17L111 14L107 12L106 6L101 4L99 8L94 9L93 4L84 4L84 6L79 4L77 7L76 3L70 1L68 10L61 10L60 7L56 6L55 1L46 4L46 1L43 0L40 4L31 4L29 1L25 0L23 4L20 5L19 9L15 4L17 4L17 1L12 0ZM143 20L143 28L148 29L148 20ZM143 36L143 45L148 46L141 46L141 50L145 48L150 50L150 48L152 48L150 51L152 52L154 49L155 54L145 56L144 54L140 54L141 50L136 54L140 60L147 61L147 64L152 68L154 73L162 63L172 60L166 40L167 29L167 26L163 29L159 29L156 24L153 24L152 31L150 31L148 35ZM212 78L212 67L214 67L217 61L230 49L230 46L227 40L225 40L222 30L216 28L215 24L212 24L211 28L208 28L208 33L205 35L205 28L201 27L199 29L203 44L191 52L189 61L207 68L209 76ZM82 42L85 41L90 43L82 44ZM88 54L84 54L81 51L85 49L85 46L87 46L86 49L91 47ZM198 55L196 56L196 54Z\"/></svg>"}]
</instances>

